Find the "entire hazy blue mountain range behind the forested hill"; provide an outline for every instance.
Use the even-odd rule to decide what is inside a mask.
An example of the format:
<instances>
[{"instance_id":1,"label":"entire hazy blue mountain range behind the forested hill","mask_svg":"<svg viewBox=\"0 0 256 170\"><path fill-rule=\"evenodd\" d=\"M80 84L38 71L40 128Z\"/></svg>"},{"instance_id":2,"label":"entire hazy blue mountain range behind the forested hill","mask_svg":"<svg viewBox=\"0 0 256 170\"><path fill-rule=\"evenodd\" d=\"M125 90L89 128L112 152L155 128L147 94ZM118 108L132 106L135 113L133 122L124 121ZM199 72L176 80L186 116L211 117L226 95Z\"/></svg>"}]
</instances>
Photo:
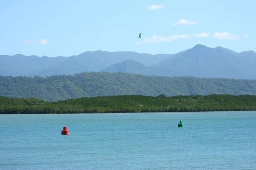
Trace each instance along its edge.
<instances>
[{"instance_id":1,"label":"entire hazy blue mountain range behind the forested hill","mask_svg":"<svg viewBox=\"0 0 256 170\"><path fill-rule=\"evenodd\" d=\"M176 54L87 51L70 57L0 55L0 75L46 77L81 72L256 79L256 53L195 45Z\"/></svg>"}]
</instances>

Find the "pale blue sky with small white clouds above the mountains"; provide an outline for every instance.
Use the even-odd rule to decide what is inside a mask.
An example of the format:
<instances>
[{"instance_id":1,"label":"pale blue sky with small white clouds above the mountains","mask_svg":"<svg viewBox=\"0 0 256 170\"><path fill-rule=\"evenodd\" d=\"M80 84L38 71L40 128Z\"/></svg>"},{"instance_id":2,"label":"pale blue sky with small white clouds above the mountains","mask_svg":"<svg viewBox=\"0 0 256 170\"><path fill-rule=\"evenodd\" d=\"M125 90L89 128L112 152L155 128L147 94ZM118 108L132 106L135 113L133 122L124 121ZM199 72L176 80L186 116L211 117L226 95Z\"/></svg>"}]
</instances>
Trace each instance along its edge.
<instances>
[{"instance_id":1,"label":"pale blue sky with small white clouds above the mountains","mask_svg":"<svg viewBox=\"0 0 256 170\"><path fill-rule=\"evenodd\" d=\"M0 23L3 55L256 51L255 0L0 0Z\"/></svg>"}]
</instances>

